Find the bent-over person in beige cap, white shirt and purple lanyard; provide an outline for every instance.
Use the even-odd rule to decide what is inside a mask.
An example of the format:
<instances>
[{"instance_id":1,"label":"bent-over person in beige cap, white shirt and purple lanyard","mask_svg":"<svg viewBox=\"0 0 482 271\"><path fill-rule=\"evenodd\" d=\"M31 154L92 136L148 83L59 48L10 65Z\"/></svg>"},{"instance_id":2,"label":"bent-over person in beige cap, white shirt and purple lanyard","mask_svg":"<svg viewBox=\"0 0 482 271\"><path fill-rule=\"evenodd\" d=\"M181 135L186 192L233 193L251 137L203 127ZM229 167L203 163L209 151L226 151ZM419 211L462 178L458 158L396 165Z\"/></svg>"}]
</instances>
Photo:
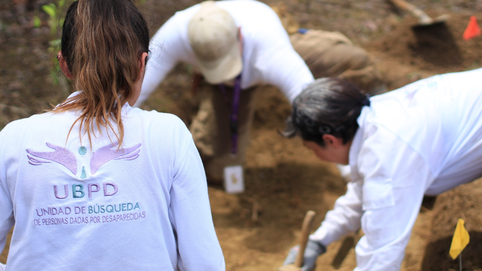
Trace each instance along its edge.
<instances>
[{"instance_id":1,"label":"bent-over person in beige cap, white shirt and purple lanyard","mask_svg":"<svg viewBox=\"0 0 482 271\"><path fill-rule=\"evenodd\" d=\"M255 86L277 86L291 102L314 78L295 52L278 15L255 0L204 1L176 12L152 38L151 64L134 106L159 86L178 62L204 80L200 109L189 130L209 182L242 166L254 115ZM228 104L227 104L228 101Z\"/></svg>"}]
</instances>

